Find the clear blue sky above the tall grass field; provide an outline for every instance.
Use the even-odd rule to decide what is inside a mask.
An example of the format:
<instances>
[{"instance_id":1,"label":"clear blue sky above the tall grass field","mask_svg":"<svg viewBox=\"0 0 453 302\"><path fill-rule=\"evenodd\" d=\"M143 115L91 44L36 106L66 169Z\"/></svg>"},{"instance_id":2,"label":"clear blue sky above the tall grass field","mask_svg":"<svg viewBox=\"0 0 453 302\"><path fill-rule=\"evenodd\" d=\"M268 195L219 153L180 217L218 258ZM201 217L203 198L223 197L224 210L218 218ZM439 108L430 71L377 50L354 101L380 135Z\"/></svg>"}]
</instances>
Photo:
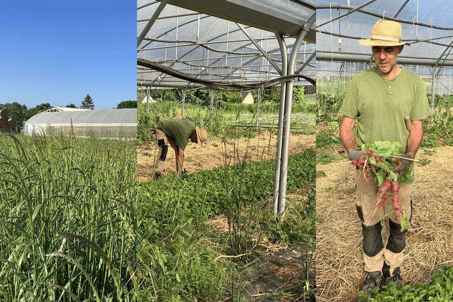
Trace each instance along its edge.
<instances>
[{"instance_id":1,"label":"clear blue sky above the tall grass field","mask_svg":"<svg viewBox=\"0 0 453 302\"><path fill-rule=\"evenodd\" d=\"M136 100L136 19L136 1L2 1L0 104Z\"/></svg>"}]
</instances>

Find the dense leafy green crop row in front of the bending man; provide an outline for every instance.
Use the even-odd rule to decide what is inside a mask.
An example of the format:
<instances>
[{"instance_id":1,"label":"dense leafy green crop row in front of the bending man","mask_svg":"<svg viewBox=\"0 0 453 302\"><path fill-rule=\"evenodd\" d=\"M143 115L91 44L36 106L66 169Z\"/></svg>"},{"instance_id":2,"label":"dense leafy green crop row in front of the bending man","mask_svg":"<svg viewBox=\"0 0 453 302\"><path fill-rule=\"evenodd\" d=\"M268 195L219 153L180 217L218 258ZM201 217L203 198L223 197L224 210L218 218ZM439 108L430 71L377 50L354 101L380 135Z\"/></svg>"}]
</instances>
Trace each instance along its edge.
<instances>
[{"instance_id":1,"label":"dense leafy green crop row in front of the bending man","mask_svg":"<svg viewBox=\"0 0 453 302\"><path fill-rule=\"evenodd\" d=\"M315 180L315 150L289 156L287 190ZM169 176L138 184L139 217L151 237L166 236L181 223L199 225L212 213L223 213L232 190L239 202L262 201L273 192L275 161L243 163L190 174L182 180ZM240 188L232 186L240 179ZM234 192L233 192L234 193Z\"/></svg>"}]
</instances>

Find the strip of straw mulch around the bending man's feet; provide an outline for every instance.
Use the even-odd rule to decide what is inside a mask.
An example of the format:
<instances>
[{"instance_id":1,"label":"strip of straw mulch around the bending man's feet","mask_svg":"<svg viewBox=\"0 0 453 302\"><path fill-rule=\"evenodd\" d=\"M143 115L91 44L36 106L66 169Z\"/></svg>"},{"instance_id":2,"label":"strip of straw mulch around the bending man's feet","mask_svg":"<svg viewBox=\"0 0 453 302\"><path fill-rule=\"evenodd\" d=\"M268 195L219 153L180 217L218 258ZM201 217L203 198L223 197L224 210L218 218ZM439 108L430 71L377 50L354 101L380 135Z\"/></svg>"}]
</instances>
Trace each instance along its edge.
<instances>
[{"instance_id":1,"label":"strip of straw mulch around the bending man's feet","mask_svg":"<svg viewBox=\"0 0 453 302\"><path fill-rule=\"evenodd\" d=\"M240 139L227 139L226 150L222 138L210 137L203 143L203 147L190 143L184 151L184 167L189 173L199 170L211 170L224 166L225 162L230 165L237 163L233 158L236 150L236 157L243 158L247 151L246 161L255 162L275 158L277 135L276 133L262 131L255 132L256 137ZM289 154L302 152L307 148L315 148L315 134L291 134L289 139ZM138 181L152 179L152 167L154 158L157 156L157 144L154 142L145 143L137 148L137 178ZM169 148L165 161L163 175L176 173L175 155L173 149Z\"/></svg>"}]
</instances>

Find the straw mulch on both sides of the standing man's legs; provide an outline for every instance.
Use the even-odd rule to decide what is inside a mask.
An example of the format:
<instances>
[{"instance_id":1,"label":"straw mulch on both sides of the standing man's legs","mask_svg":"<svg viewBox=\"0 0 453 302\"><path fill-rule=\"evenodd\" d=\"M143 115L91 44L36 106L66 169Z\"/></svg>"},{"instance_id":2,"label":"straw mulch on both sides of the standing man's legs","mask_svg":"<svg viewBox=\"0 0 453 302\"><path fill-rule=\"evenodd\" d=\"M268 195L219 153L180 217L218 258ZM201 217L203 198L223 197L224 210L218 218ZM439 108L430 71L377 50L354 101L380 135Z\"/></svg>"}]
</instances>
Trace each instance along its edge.
<instances>
[{"instance_id":1,"label":"straw mulch on both sides of the standing man's legs","mask_svg":"<svg viewBox=\"0 0 453 302\"><path fill-rule=\"evenodd\" d=\"M429 283L443 265L453 265L453 147L428 156L419 150L411 228L407 232L402 285ZM318 165L316 283L320 302L355 301L365 272L362 236L354 204L355 171L349 161Z\"/></svg>"}]
</instances>

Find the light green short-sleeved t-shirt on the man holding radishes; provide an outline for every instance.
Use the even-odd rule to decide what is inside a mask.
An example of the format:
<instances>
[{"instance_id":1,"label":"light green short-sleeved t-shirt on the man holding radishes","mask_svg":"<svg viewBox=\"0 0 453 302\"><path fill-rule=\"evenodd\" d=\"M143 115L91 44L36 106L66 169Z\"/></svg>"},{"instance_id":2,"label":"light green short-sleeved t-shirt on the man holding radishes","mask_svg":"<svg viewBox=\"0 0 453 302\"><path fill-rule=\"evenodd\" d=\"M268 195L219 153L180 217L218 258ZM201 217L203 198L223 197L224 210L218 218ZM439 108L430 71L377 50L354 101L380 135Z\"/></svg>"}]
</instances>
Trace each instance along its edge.
<instances>
[{"instance_id":1,"label":"light green short-sleeved t-shirt on the man holding radishes","mask_svg":"<svg viewBox=\"0 0 453 302\"><path fill-rule=\"evenodd\" d=\"M374 141L399 142L407 152L404 117L422 120L431 111L422 79L402 69L393 80L378 74L377 67L354 76L343 99L340 113L357 119L356 145Z\"/></svg>"}]
</instances>

